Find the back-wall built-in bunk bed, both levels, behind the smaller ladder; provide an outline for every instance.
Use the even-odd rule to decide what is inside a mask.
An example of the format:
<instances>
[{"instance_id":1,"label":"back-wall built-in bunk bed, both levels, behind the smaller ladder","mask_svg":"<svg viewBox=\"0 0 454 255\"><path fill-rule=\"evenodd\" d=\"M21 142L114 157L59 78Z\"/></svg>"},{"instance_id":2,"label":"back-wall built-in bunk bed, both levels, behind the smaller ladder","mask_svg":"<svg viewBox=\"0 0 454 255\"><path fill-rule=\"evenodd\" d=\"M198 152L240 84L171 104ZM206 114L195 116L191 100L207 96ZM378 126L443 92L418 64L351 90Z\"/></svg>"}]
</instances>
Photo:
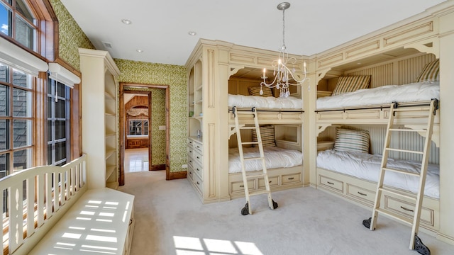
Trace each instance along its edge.
<instances>
[{"instance_id":1,"label":"back-wall built-in bunk bed, both levels, behind the smaller ladder","mask_svg":"<svg viewBox=\"0 0 454 255\"><path fill-rule=\"evenodd\" d=\"M251 115L238 116L240 125L254 125L252 108L258 112L271 190L302 186L301 137L304 111L301 88L291 88L293 93L283 98L279 97L277 90L273 91L266 86L260 86L260 80L231 77L228 86L228 187L231 198L244 196L233 107L238 111L251 111ZM255 130L241 130L241 139L243 142L256 141ZM245 158L260 157L258 147L253 145L243 147L243 152ZM246 161L245 169L262 171L262 164L259 161ZM265 189L263 178L250 179L248 187L251 191Z\"/></svg>"}]
</instances>

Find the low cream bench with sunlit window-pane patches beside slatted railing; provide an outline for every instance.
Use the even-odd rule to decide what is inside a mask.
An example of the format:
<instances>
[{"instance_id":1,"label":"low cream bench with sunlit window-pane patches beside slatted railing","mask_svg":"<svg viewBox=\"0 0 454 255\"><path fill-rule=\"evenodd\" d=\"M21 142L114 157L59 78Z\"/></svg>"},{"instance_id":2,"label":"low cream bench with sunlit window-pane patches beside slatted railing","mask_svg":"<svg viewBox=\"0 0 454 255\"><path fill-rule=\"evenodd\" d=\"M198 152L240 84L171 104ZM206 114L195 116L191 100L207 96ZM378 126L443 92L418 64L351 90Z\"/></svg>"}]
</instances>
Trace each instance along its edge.
<instances>
[{"instance_id":1,"label":"low cream bench with sunlit window-pane patches beside slatted railing","mask_svg":"<svg viewBox=\"0 0 454 255\"><path fill-rule=\"evenodd\" d=\"M82 255L109 251L109 254L128 255L135 224L133 208L131 194L111 188L90 189L29 254Z\"/></svg>"}]
</instances>

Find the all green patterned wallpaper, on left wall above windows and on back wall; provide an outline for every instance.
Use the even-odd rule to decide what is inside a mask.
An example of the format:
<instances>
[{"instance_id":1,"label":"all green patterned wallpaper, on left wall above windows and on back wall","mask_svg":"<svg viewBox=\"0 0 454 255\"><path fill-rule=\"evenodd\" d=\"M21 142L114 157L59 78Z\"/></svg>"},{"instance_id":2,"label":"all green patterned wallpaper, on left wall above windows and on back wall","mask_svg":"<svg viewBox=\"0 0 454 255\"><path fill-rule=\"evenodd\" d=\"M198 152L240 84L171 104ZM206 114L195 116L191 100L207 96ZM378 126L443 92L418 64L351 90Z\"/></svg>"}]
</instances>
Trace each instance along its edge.
<instances>
[{"instance_id":1,"label":"all green patterned wallpaper, on left wall above windows and on back wall","mask_svg":"<svg viewBox=\"0 0 454 255\"><path fill-rule=\"evenodd\" d=\"M59 56L62 60L71 64L72 67L80 70L78 48L95 49L95 47L60 0L50 0L50 4L55 11L59 23ZM115 62L121 71L121 75L118 77L119 82L170 86L170 171L185 171L186 169L182 169L182 164L187 164L186 69L177 65L134 62L130 60L115 60ZM164 101L165 95L160 93L162 92L159 89L153 92L152 99L154 103L161 104ZM162 117L164 113L156 114L157 121L153 121L153 124L157 126L165 125L165 120ZM162 121L164 122L162 123ZM152 128L157 129L157 126L153 126ZM155 133L157 140L163 139L160 136L160 132ZM153 136L154 139L155 137ZM165 154L162 154L165 153L165 150L162 152L163 144L163 142L158 142L156 145L153 145L152 164L163 164L162 162L165 162Z\"/></svg>"}]
</instances>

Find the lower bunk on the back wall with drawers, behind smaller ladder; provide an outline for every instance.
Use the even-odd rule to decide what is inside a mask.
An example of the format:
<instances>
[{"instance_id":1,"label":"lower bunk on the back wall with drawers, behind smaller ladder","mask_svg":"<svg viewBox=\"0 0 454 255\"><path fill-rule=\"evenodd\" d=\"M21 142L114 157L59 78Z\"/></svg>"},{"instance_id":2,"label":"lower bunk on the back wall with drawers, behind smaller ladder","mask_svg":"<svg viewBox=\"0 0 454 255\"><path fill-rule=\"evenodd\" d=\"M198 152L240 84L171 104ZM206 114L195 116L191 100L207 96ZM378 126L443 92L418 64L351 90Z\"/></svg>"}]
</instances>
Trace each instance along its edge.
<instances>
[{"instance_id":1,"label":"lower bunk on the back wall with drawers, behind smaller ladder","mask_svg":"<svg viewBox=\"0 0 454 255\"><path fill-rule=\"evenodd\" d=\"M242 130L243 141L252 141L254 135ZM301 125L263 125L260 127L265 166L271 191L304 186ZM236 133L233 135L237 135ZM228 193L231 199L245 196L242 166L236 138L230 137L228 150ZM258 147L243 147L245 158L260 157ZM262 173L258 160L245 161L245 171ZM263 177L248 180L249 191L265 190Z\"/></svg>"}]
</instances>

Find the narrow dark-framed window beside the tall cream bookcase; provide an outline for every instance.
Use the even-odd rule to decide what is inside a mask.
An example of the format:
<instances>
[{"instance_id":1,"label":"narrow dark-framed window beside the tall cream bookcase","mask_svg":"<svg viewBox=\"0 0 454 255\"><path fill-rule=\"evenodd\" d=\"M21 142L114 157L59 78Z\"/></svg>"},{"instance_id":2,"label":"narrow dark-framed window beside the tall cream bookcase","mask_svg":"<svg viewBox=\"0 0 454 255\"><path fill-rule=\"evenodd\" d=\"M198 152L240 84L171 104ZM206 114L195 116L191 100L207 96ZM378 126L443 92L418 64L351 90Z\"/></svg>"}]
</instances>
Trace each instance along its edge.
<instances>
[{"instance_id":1,"label":"narrow dark-framed window beside the tall cream bookcase","mask_svg":"<svg viewBox=\"0 0 454 255\"><path fill-rule=\"evenodd\" d=\"M48 79L48 165L70 159L70 88Z\"/></svg>"}]
</instances>

